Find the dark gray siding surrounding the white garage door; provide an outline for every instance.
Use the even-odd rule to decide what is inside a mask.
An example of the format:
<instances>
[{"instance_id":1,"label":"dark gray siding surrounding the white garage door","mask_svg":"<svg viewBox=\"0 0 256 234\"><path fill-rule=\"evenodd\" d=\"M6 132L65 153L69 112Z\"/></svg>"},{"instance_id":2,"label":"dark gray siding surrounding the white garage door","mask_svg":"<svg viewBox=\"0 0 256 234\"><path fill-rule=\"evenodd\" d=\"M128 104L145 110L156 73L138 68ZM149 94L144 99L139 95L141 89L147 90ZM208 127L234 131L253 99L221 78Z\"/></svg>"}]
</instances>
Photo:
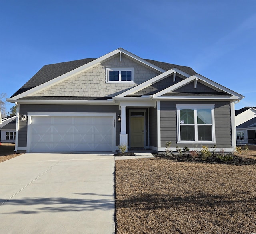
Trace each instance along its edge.
<instances>
[{"instance_id":1,"label":"dark gray siding surrounding the white garage door","mask_svg":"<svg viewBox=\"0 0 256 234\"><path fill-rule=\"evenodd\" d=\"M20 105L20 114L28 112L115 112L116 113L116 146L119 145L121 122L117 121L120 110L117 105ZM27 146L27 119L19 124L18 147Z\"/></svg>"}]
</instances>

